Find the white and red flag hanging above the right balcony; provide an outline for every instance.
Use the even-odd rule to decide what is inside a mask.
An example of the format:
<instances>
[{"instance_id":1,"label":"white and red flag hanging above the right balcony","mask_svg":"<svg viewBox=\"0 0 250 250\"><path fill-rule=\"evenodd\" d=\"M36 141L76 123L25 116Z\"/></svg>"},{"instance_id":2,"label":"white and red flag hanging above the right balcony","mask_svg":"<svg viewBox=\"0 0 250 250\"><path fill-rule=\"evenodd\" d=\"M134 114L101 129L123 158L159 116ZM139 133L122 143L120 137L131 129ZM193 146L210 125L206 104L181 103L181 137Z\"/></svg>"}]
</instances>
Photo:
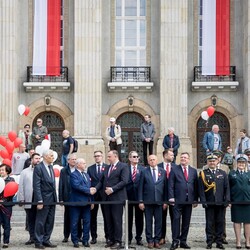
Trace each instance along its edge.
<instances>
[{"instance_id":1,"label":"white and red flag hanging above the right balcony","mask_svg":"<svg viewBox=\"0 0 250 250\"><path fill-rule=\"evenodd\" d=\"M202 75L230 74L230 0L203 0Z\"/></svg>"}]
</instances>

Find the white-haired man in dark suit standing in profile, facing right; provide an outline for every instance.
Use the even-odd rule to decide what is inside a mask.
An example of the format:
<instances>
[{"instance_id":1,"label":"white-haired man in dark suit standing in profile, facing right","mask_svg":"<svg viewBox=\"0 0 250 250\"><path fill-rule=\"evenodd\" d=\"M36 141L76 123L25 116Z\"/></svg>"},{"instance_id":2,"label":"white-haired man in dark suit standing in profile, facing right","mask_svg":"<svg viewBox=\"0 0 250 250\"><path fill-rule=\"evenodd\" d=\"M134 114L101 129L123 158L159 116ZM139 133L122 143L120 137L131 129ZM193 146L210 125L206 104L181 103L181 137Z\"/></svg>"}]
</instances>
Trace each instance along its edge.
<instances>
[{"instance_id":1,"label":"white-haired man in dark suit standing in profile, facing right","mask_svg":"<svg viewBox=\"0 0 250 250\"><path fill-rule=\"evenodd\" d=\"M33 191L34 202L38 202L35 222L35 248L56 247L50 242L54 227L56 187L52 168L53 150L43 152L43 162L34 168Z\"/></svg>"}]
</instances>

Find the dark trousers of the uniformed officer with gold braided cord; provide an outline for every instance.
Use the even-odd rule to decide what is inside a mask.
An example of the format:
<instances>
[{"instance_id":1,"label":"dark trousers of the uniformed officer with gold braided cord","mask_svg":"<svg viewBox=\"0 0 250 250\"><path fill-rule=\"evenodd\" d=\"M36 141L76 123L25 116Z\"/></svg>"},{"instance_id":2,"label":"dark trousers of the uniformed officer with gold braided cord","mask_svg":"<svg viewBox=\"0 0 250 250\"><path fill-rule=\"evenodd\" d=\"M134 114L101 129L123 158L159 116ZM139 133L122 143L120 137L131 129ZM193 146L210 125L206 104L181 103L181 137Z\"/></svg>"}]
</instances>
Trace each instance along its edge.
<instances>
[{"instance_id":1,"label":"dark trousers of the uniformed officer with gold braided cord","mask_svg":"<svg viewBox=\"0 0 250 250\"><path fill-rule=\"evenodd\" d=\"M224 231L224 206L208 206L205 209L206 214L206 236L207 244L213 243L215 233L215 242L222 243L222 235Z\"/></svg>"}]
</instances>

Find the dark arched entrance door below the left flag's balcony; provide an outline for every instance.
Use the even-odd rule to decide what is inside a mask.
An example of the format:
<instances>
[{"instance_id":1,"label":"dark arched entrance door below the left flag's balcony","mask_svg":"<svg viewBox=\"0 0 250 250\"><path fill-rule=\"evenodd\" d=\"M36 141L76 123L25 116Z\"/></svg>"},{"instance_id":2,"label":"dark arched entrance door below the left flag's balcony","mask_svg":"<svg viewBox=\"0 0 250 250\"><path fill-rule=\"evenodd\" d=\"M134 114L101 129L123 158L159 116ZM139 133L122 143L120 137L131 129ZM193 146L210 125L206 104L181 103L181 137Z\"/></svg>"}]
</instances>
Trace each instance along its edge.
<instances>
[{"instance_id":1,"label":"dark arched entrance door below the left flag's balcony","mask_svg":"<svg viewBox=\"0 0 250 250\"><path fill-rule=\"evenodd\" d=\"M50 148L57 152L58 158L55 164L61 165L62 157L62 131L65 129L62 117L55 112L43 112L35 117L32 126L36 126L37 118L43 120L43 125L48 128L48 133L51 136Z\"/></svg>"}]
</instances>

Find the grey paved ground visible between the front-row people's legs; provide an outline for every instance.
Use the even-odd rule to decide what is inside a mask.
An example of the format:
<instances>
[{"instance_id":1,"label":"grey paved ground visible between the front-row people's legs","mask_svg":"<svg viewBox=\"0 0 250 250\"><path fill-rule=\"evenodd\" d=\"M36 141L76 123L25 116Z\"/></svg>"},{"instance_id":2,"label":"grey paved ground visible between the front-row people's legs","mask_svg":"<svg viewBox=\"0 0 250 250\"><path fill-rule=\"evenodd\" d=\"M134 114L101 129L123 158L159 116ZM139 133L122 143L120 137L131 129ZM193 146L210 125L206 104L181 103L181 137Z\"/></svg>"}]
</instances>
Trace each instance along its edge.
<instances>
[{"instance_id":1,"label":"grey paved ground visible between the front-row people's legs","mask_svg":"<svg viewBox=\"0 0 250 250\"><path fill-rule=\"evenodd\" d=\"M63 208L58 206L57 207L57 216L56 216L56 225L54 227L54 231L51 237L51 241L55 244L57 244L56 249L74 249L71 242L68 243L62 243L63 238L63 228L62 228L62 213ZM188 236L188 244L192 247L192 249L205 249L206 243L205 243L205 234L204 234L204 210L201 208L201 206L198 206L198 208L193 210L193 216L192 216L192 222L190 227L190 232ZM13 223L12 223L12 230L11 230L11 239L9 248L10 249L34 249L34 246L25 246L24 242L28 240L28 232L24 230L24 213L22 209L15 207L13 212ZM22 221L20 221L22 220ZM227 212L227 239L229 241L228 245L225 245L226 249L235 249L235 236L233 232L232 223L230 222L230 210L228 208ZM104 248L104 237L103 237L103 222L101 216L99 216L98 220L98 243L95 245L91 245L90 249L105 249ZM169 228L169 225L168 225ZM124 237L125 238L125 237ZM170 230L167 232L167 238L168 240L171 239ZM145 243L144 247L139 247L132 242L131 247L136 247L136 249L147 249L146 247L146 241L145 237L143 235L143 241ZM243 242L242 242L243 244ZM2 244L1 244L2 245ZM169 249L170 243L168 242L163 249ZM214 249L215 244L214 244ZM84 247L81 246L80 249L83 249ZM89 249L89 248L88 248ZM130 249L126 248L125 249Z\"/></svg>"}]
</instances>

